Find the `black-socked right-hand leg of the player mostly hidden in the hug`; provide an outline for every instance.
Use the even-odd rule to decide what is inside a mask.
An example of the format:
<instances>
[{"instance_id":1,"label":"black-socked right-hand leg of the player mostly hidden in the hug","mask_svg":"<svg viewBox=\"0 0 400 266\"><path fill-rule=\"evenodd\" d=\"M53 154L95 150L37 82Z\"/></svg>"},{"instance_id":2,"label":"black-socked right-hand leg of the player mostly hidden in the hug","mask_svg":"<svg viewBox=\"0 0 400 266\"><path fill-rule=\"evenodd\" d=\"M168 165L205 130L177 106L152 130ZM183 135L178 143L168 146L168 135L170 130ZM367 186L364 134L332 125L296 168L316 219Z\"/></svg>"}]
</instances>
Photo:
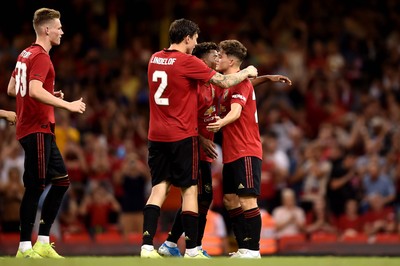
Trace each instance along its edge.
<instances>
[{"instance_id":1,"label":"black-socked right-hand leg of the player mostly hidden in the hug","mask_svg":"<svg viewBox=\"0 0 400 266\"><path fill-rule=\"evenodd\" d=\"M213 199L211 163L200 161L200 173L198 180L198 204L199 204L199 227L197 235L197 248L205 256L209 256L202 248L202 240L207 222L207 213Z\"/></svg>"}]
</instances>

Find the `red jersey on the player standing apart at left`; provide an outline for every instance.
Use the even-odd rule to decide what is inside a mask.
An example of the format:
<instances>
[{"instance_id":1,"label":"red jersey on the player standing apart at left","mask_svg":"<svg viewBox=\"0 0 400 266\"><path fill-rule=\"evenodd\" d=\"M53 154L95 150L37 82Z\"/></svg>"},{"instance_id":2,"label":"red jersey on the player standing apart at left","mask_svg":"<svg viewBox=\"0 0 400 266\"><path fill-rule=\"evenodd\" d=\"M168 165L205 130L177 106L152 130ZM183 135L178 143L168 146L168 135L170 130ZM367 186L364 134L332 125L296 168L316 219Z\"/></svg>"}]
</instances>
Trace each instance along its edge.
<instances>
[{"instance_id":1,"label":"red jersey on the player standing apart at left","mask_svg":"<svg viewBox=\"0 0 400 266\"><path fill-rule=\"evenodd\" d=\"M54 107L29 96L31 80L43 82L43 88L54 93L55 72L49 54L37 44L26 48L18 56L12 76L16 81L17 139L37 132L54 134Z\"/></svg>"}]
</instances>

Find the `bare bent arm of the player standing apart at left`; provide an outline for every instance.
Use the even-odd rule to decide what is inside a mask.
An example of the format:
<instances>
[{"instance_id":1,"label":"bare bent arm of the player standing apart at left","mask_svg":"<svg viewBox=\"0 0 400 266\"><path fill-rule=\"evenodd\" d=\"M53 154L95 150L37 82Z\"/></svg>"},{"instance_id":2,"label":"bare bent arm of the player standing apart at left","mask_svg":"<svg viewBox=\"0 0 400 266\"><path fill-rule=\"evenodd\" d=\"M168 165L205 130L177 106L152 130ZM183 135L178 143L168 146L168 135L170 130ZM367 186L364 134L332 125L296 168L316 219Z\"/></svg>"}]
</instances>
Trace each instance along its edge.
<instances>
[{"instance_id":1,"label":"bare bent arm of the player standing apart at left","mask_svg":"<svg viewBox=\"0 0 400 266\"><path fill-rule=\"evenodd\" d=\"M82 101L82 98L73 102L64 101L45 90L43 83L35 79L29 81L29 96L41 103L63 108L70 112L83 113L86 109L86 104Z\"/></svg>"}]
</instances>

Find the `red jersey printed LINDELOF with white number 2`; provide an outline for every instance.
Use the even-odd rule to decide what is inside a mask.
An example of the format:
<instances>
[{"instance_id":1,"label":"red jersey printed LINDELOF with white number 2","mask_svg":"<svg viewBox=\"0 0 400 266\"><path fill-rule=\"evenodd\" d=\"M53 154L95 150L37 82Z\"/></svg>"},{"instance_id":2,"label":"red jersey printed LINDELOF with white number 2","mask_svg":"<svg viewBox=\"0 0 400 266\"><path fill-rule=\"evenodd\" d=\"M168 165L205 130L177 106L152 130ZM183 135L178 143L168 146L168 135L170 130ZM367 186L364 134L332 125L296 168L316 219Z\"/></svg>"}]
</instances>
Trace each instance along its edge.
<instances>
[{"instance_id":1,"label":"red jersey printed LINDELOF with white number 2","mask_svg":"<svg viewBox=\"0 0 400 266\"><path fill-rule=\"evenodd\" d=\"M197 82L216 72L195 56L175 50L153 54L148 66L148 138L172 142L197 136Z\"/></svg>"}]
</instances>

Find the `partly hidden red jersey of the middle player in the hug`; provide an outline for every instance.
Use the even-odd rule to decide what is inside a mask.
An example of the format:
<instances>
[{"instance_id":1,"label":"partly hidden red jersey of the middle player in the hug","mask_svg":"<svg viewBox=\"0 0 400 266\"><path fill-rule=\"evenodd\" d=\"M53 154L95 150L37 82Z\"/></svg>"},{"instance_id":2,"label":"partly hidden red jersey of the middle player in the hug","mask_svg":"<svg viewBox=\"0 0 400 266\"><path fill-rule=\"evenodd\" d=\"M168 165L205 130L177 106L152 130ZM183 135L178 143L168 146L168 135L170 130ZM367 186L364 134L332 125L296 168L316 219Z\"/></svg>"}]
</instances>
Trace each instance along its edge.
<instances>
[{"instance_id":1,"label":"partly hidden red jersey of the middle player in the hug","mask_svg":"<svg viewBox=\"0 0 400 266\"><path fill-rule=\"evenodd\" d=\"M207 125L215 121L217 115L219 87L210 83L199 82L198 85L198 125L199 134L209 140L214 140L214 133L207 130ZM213 159L207 156L200 148L200 160L212 162Z\"/></svg>"}]
</instances>

